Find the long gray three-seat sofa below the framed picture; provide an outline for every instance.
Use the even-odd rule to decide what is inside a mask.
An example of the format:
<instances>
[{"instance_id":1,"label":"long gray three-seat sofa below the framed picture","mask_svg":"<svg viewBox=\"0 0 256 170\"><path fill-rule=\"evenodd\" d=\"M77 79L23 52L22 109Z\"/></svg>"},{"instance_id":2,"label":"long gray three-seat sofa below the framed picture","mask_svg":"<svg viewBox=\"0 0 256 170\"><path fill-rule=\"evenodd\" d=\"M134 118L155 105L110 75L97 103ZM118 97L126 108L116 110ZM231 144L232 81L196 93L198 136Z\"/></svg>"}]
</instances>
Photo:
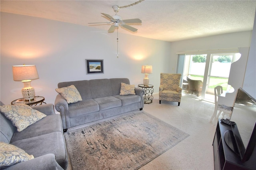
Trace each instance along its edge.
<instances>
[{"instance_id":1,"label":"long gray three-seat sofa below the framed picture","mask_svg":"<svg viewBox=\"0 0 256 170\"><path fill-rule=\"evenodd\" d=\"M136 95L120 95L121 83L130 85L127 78L58 83L58 88L74 85L82 97L82 101L68 104L60 94L56 96L54 105L60 112L64 130L136 109L142 110L144 90L135 87Z\"/></svg>"}]
</instances>

